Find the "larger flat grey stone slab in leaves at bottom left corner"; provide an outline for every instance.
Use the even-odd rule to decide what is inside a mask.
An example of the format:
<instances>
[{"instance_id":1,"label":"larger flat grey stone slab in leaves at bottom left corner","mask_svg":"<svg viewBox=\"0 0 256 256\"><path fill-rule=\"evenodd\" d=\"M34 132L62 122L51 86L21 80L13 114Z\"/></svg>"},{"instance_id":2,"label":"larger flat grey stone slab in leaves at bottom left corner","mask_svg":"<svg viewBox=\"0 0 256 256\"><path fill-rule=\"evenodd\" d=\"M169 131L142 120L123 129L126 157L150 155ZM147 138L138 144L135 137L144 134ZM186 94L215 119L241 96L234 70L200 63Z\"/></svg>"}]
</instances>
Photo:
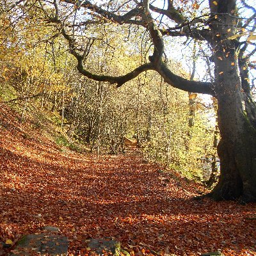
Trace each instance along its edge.
<instances>
[{"instance_id":1,"label":"larger flat grey stone slab in leaves at bottom left corner","mask_svg":"<svg viewBox=\"0 0 256 256\"><path fill-rule=\"evenodd\" d=\"M65 236L45 236L45 234L27 235L15 244L10 256L40 255L66 256L68 240ZM37 255L37 254L36 254Z\"/></svg>"}]
</instances>

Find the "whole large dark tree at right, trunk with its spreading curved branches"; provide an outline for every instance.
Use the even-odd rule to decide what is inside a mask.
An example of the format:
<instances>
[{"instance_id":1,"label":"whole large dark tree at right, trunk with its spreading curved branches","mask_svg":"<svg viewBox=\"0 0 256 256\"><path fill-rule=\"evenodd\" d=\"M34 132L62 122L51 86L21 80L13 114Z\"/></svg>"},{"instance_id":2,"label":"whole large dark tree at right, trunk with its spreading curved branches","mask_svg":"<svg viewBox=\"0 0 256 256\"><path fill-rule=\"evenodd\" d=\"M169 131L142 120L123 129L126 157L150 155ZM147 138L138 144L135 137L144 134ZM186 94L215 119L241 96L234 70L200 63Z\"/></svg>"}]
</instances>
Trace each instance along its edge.
<instances>
[{"instance_id":1,"label":"whole large dark tree at right, trunk with its spreading curved branches","mask_svg":"<svg viewBox=\"0 0 256 256\"><path fill-rule=\"evenodd\" d=\"M53 12L47 10L47 5L43 7L49 22L56 24L67 39L70 52L77 59L77 69L84 76L120 87L141 72L156 70L166 83L176 88L216 97L221 134L218 145L221 176L209 196L217 200L256 200L256 150L253 143L256 111L248 72L248 68L254 68L250 57L256 51L252 43L255 38L253 6L244 0L161 1L158 6L150 0L98 4L96 1L74 3L65 0L59 3L54 0ZM145 52L145 49L140 51L140 44L134 44L134 51L141 52L143 58L137 67L131 67L127 72L116 72L115 76L111 72L96 74L84 66L84 61L90 56L88 40L95 37L90 29L96 26L112 26L113 33L119 27L124 29L124 35L127 35L125 28L142 29L144 35L150 37L152 47ZM174 40L177 36L205 42L214 63L213 83L177 76L166 65L164 46L168 45L168 40L165 38ZM127 39L131 37L129 34ZM106 44L107 48L109 46Z\"/></svg>"}]
</instances>

